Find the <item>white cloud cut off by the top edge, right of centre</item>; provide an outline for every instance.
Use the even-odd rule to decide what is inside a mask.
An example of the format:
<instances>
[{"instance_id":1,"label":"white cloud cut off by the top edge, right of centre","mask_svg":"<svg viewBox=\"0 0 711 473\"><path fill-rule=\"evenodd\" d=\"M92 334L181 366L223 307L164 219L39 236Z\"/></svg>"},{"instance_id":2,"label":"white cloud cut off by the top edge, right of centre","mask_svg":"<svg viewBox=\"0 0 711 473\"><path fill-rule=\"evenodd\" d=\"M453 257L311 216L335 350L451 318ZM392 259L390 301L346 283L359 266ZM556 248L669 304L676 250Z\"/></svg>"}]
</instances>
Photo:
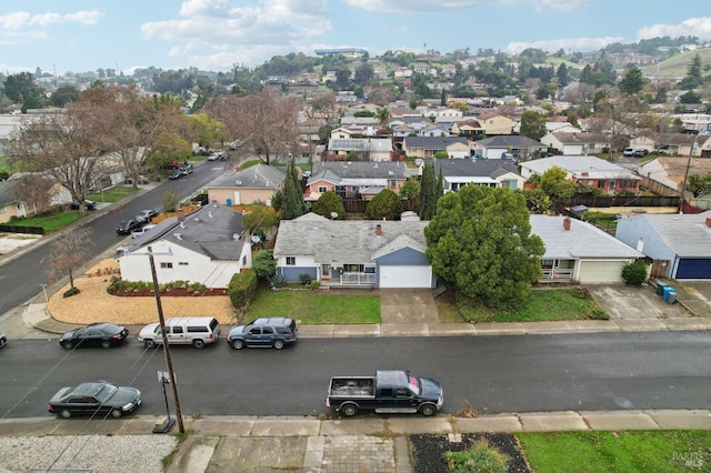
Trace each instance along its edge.
<instances>
[{"instance_id":1,"label":"white cloud cut off by the top edge, right of centre","mask_svg":"<svg viewBox=\"0 0 711 473\"><path fill-rule=\"evenodd\" d=\"M442 10L464 10L474 8L480 4L507 4L512 7L529 6L535 11L545 9L553 10L575 10L590 0L440 0L433 2L431 0L411 0L403 2L402 0L344 0L344 2L353 8L360 8L365 11L385 11L391 13L420 13L420 12L439 12Z\"/></svg>"}]
</instances>

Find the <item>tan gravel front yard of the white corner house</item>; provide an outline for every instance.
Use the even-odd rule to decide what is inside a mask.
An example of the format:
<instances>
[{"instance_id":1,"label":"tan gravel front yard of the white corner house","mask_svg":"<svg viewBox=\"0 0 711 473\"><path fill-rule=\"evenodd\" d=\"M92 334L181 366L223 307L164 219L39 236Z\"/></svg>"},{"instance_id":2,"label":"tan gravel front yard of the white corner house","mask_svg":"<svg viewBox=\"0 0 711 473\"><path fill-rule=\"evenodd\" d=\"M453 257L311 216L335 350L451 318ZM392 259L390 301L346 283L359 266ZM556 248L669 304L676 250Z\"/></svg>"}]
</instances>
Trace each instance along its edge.
<instances>
[{"instance_id":1,"label":"tan gravel front yard of the white corner house","mask_svg":"<svg viewBox=\"0 0 711 473\"><path fill-rule=\"evenodd\" d=\"M89 269L83 276L74 279L80 292L70 298L62 294L69 284L50 298L48 311L61 322L87 324L92 322L112 322L121 325L142 325L158 320L154 296L128 298L111 295L107 288L111 275L96 275L98 270L106 272L118 268L112 260L104 260ZM224 325L238 322L238 313L227 295L210 296L161 296L161 306L166 319L171 316L213 316Z\"/></svg>"}]
</instances>

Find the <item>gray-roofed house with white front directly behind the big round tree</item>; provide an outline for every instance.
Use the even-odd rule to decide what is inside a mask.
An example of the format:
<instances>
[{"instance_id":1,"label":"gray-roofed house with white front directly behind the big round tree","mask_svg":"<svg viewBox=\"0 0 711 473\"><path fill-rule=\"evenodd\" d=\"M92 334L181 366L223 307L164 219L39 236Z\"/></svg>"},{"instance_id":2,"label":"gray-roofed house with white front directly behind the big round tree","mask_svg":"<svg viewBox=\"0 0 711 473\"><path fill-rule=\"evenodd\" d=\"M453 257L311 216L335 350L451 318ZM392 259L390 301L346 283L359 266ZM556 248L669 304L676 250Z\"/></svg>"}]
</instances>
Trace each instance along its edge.
<instances>
[{"instance_id":1,"label":"gray-roofed house with white front directly behind the big round tree","mask_svg":"<svg viewBox=\"0 0 711 473\"><path fill-rule=\"evenodd\" d=\"M442 174L444 192L455 192L460 188L474 183L488 188L523 189L525 179L511 160L435 159L434 175ZM419 169L422 175L425 161Z\"/></svg>"}]
</instances>

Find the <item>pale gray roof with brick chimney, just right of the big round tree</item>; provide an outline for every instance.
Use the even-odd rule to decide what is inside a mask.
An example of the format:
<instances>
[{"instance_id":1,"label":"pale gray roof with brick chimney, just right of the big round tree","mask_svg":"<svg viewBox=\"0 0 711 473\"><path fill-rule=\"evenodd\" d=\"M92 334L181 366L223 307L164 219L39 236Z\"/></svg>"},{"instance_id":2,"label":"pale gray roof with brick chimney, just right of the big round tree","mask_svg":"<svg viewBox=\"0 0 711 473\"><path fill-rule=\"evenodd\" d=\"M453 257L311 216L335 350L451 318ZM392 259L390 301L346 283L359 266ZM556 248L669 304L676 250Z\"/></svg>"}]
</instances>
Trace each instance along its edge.
<instances>
[{"instance_id":1,"label":"pale gray roof with brick chimney, just right of the big round tree","mask_svg":"<svg viewBox=\"0 0 711 473\"><path fill-rule=\"evenodd\" d=\"M531 234L545 244L545 259L630 259L644 254L628 246L597 227L570 219L570 230L563 229L562 215L530 215Z\"/></svg>"}]
</instances>

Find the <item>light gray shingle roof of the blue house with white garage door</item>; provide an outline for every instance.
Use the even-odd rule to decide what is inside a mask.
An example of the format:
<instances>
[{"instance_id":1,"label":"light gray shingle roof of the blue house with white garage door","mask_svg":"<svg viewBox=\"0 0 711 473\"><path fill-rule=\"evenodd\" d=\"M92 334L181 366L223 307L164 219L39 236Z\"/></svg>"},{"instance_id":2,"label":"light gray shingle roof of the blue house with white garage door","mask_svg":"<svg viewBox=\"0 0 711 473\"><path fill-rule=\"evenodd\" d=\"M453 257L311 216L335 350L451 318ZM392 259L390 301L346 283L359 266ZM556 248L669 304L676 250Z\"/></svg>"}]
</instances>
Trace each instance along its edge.
<instances>
[{"instance_id":1,"label":"light gray shingle roof of the blue house with white garage door","mask_svg":"<svg viewBox=\"0 0 711 473\"><path fill-rule=\"evenodd\" d=\"M306 214L279 224L274 256L312 255L319 264L374 263L402 248L424 252L423 221L330 220ZM375 225L382 232L375 235Z\"/></svg>"}]
</instances>

